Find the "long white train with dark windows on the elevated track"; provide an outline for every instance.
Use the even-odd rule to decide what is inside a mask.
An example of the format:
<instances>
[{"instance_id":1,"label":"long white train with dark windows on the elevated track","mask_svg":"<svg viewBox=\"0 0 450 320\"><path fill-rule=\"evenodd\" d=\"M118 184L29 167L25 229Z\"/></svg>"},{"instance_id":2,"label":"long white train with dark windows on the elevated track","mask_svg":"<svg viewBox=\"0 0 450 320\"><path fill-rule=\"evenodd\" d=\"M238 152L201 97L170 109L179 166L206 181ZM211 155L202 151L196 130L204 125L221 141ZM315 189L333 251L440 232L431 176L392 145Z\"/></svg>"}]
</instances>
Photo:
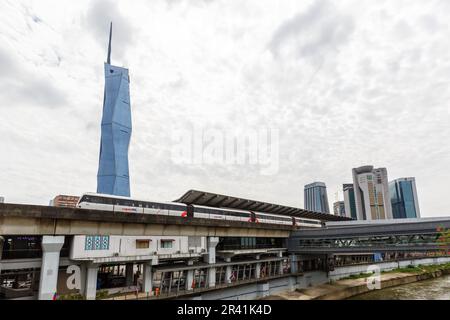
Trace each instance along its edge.
<instances>
[{"instance_id":1,"label":"long white train with dark windows on the elevated track","mask_svg":"<svg viewBox=\"0 0 450 320\"><path fill-rule=\"evenodd\" d=\"M194 217L244 221L251 223L270 223L296 225L303 227L321 227L320 220L288 217L276 214L243 211L237 209L213 208L198 205L186 205L176 202L142 201L127 197L118 197L98 193L85 193L77 204L78 208L113 212L155 214L177 217Z\"/></svg>"}]
</instances>

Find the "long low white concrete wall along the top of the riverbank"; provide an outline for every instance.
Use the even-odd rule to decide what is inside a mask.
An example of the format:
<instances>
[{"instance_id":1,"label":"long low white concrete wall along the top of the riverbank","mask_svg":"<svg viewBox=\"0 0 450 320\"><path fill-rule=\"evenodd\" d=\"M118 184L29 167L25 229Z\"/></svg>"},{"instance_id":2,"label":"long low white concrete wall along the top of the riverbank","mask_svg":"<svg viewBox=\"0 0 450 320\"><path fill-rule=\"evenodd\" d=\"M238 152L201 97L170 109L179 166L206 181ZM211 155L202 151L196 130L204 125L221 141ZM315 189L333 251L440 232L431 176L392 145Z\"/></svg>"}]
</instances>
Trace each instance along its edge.
<instances>
[{"instance_id":1,"label":"long low white concrete wall along the top of the riverbank","mask_svg":"<svg viewBox=\"0 0 450 320\"><path fill-rule=\"evenodd\" d=\"M368 267L376 265L380 267L380 271L390 271L397 268L404 268L409 265L437 265L444 264L450 262L450 257L442 257L442 258L425 258L425 259L411 259L411 260L402 260L402 261L394 261L394 262L378 262L373 264L365 264L365 265L355 265L355 266L347 266L347 267L337 267L334 271L329 273L330 280L339 280L342 278L346 278L348 276L360 273L367 273Z\"/></svg>"}]
</instances>

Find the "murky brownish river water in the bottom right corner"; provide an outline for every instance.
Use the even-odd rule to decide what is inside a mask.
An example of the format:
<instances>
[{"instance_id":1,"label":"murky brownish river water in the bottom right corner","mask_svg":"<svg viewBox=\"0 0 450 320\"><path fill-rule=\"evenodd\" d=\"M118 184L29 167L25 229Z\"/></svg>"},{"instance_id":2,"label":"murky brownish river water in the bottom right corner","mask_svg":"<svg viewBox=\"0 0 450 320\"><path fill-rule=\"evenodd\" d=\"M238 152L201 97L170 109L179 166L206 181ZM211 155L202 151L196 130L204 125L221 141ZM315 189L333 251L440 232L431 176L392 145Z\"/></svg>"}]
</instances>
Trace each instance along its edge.
<instances>
[{"instance_id":1,"label":"murky brownish river water in the bottom right corner","mask_svg":"<svg viewBox=\"0 0 450 320\"><path fill-rule=\"evenodd\" d=\"M450 275L374 290L349 300L450 300Z\"/></svg>"}]
</instances>

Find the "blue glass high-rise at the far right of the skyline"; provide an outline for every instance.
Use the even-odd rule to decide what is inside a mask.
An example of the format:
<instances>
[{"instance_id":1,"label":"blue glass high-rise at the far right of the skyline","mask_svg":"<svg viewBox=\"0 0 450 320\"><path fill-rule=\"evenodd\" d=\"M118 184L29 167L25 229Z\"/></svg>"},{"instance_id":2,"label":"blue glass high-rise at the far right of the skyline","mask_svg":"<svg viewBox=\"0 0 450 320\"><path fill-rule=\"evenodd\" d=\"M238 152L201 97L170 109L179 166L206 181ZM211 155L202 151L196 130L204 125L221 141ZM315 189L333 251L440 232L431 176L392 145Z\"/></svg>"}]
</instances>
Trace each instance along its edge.
<instances>
[{"instance_id":1,"label":"blue glass high-rise at the far right of the skyline","mask_svg":"<svg viewBox=\"0 0 450 320\"><path fill-rule=\"evenodd\" d=\"M394 219L420 218L416 179L400 178L389 182Z\"/></svg>"}]
</instances>

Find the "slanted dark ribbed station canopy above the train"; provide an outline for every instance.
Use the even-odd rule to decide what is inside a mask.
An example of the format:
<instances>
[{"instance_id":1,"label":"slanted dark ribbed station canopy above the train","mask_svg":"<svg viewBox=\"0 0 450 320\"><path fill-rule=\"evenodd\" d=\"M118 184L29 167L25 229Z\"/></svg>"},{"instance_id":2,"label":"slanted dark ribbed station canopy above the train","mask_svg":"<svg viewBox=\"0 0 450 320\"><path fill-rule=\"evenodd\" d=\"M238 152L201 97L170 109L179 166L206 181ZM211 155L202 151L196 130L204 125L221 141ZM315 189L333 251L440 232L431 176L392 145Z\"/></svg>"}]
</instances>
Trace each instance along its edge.
<instances>
[{"instance_id":1,"label":"slanted dark ribbed station canopy above the train","mask_svg":"<svg viewBox=\"0 0 450 320\"><path fill-rule=\"evenodd\" d=\"M316 219L321 221L348 221L352 220L347 217L335 216L327 213L308 211L305 209L287 207L283 205L236 198L216 193L190 190L186 192L180 199L174 202L192 204L199 206L238 209L244 211L256 211L262 213L273 213L283 216Z\"/></svg>"}]
</instances>

